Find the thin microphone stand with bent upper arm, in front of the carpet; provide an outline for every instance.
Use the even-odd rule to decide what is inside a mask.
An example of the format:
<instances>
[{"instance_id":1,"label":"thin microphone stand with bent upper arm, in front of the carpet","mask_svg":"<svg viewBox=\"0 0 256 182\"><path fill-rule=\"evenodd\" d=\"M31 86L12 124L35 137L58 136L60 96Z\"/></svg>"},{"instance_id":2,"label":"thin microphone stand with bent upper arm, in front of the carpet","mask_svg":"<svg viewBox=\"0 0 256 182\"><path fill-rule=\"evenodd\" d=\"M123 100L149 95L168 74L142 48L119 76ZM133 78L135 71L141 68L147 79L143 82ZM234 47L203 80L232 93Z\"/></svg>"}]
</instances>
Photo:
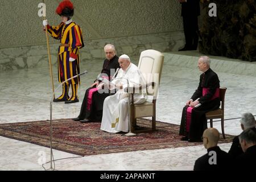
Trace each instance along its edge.
<instances>
[{"instance_id":1,"label":"thin microphone stand with bent upper arm, in front of the carpet","mask_svg":"<svg viewBox=\"0 0 256 182\"><path fill-rule=\"evenodd\" d=\"M83 73L80 73L79 75L73 76L73 77L68 78L67 80L61 82L61 84L57 87L57 89L55 90L55 92L56 92L56 91L60 88L60 86L62 86L65 82L71 80L72 78L76 78L76 77L78 77L78 76L80 76L80 75L84 75L85 73L88 73L88 71L85 71L85 72L83 72ZM52 154L52 101L53 101L53 98L55 98L55 97L54 97L54 96L55 96L55 92L53 92L52 98L51 98L51 102L50 102L50 148L51 148L51 149L50 149L50 150L51 150L51 154L50 154L50 155L51 155L51 166L50 166L50 168L47 169L46 171L56 171L55 166L54 166L54 168L52 168L52 161L53 161L53 154Z\"/></svg>"}]
</instances>

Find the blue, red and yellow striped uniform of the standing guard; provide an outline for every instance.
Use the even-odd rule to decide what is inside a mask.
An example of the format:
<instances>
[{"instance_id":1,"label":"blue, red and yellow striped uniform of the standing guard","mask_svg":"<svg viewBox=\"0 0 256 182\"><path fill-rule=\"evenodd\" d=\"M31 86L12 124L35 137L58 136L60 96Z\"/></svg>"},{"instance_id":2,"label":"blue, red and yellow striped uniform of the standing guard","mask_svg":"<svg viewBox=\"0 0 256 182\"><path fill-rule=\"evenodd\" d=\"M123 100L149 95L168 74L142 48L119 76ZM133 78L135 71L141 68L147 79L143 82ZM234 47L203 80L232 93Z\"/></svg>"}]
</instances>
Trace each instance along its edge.
<instances>
[{"instance_id":1,"label":"blue, red and yellow striped uniform of the standing guard","mask_svg":"<svg viewBox=\"0 0 256 182\"><path fill-rule=\"evenodd\" d=\"M60 23L59 26L47 26L48 33L54 39L60 40L58 50L58 78L59 82L63 82L80 73L80 56L79 49L84 47L82 40L81 28L75 23L69 24ZM69 57L75 61L69 61ZM77 87L80 84L80 77L72 78L67 83L63 84L63 94L59 99L64 96L68 97L69 85L72 86L72 97L68 100L75 100L77 98Z\"/></svg>"}]
</instances>

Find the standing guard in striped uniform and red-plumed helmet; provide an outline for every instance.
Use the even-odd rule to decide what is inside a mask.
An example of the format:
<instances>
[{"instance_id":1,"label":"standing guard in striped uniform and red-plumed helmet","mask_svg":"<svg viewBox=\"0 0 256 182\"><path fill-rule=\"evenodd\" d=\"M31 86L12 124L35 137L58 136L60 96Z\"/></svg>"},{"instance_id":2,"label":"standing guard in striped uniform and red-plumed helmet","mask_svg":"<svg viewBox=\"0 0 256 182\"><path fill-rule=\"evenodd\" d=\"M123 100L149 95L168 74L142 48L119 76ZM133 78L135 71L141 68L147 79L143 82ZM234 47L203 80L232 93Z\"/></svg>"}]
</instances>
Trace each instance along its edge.
<instances>
[{"instance_id":1,"label":"standing guard in striped uniform and red-plumed helmet","mask_svg":"<svg viewBox=\"0 0 256 182\"><path fill-rule=\"evenodd\" d=\"M68 80L80 73L79 49L84 47L82 31L79 25L72 20L74 14L73 3L69 0L60 2L56 9L60 15L61 23L58 26L50 26L47 20L43 20L44 27L53 39L60 40L58 50L58 79L59 82ZM64 101L65 104L79 102L77 89L80 84L80 77L72 78L63 84L63 92L53 102ZM69 87L72 89L72 96L68 95Z\"/></svg>"}]
</instances>

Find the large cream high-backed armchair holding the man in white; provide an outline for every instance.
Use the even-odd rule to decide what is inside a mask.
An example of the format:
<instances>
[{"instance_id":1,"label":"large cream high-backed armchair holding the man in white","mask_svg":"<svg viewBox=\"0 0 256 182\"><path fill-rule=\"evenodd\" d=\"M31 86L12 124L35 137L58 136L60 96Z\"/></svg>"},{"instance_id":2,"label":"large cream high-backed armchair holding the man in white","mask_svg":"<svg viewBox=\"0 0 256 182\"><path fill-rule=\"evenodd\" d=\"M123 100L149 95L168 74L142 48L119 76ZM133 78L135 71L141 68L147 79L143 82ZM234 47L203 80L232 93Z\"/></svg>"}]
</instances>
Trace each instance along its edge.
<instances>
[{"instance_id":1,"label":"large cream high-backed armchair holding the man in white","mask_svg":"<svg viewBox=\"0 0 256 182\"><path fill-rule=\"evenodd\" d=\"M140 88L129 88L129 90L133 90L129 92L131 93L131 132L136 133L137 118L143 117L152 117L152 130L156 130L156 99L158 97L158 89L162 74L163 63L164 55L161 52L152 49L141 52L138 68L142 72L142 75L144 76L147 85L142 85ZM143 104L134 104L133 93L138 93L138 89L141 90L142 88L146 88L149 100L147 100Z\"/></svg>"}]
</instances>

